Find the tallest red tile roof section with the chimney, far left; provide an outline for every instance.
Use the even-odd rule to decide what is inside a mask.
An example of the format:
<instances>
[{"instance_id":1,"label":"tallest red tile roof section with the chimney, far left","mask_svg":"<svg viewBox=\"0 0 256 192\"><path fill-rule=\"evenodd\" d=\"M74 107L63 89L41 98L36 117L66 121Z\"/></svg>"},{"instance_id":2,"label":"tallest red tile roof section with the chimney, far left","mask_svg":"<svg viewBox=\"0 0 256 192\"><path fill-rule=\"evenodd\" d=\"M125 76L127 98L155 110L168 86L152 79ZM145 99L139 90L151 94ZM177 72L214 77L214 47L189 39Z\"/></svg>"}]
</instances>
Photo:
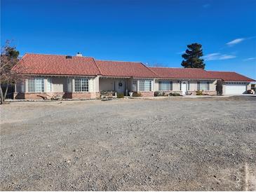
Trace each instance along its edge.
<instances>
[{"instance_id":1,"label":"tallest red tile roof section with the chimney, far left","mask_svg":"<svg viewBox=\"0 0 256 192\"><path fill-rule=\"evenodd\" d=\"M67 59L66 55L26 53L20 60L22 74L97 76L100 74L93 57ZM18 69L18 67L13 68ZM18 69L18 70L19 70Z\"/></svg>"}]
</instances>

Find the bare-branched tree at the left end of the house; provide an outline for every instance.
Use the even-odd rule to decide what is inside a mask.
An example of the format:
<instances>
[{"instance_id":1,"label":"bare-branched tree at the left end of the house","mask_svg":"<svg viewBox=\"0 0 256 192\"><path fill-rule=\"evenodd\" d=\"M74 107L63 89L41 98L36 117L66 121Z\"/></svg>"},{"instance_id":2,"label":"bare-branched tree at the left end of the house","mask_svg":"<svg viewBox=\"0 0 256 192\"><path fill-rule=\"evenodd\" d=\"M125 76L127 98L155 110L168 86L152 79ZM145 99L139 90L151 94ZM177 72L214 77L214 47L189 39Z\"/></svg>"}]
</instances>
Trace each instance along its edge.
<instances>
[{"instance_id":1,"label":"bare-branched tree at the left end of the house","mask_svg":"<svg viewBox=\"0 0 256 192\"><path fill-rule=\"evenodd\" d=\"M24 79L24 76L19 74L22 69L18 58L20 53L10 43L11 41L6 41L6 45L1 48L0 80L1 85L6 85L6 90L3 92L0 86L0 104L4 104L9 86Z\"/></svg>"}]
</instances>

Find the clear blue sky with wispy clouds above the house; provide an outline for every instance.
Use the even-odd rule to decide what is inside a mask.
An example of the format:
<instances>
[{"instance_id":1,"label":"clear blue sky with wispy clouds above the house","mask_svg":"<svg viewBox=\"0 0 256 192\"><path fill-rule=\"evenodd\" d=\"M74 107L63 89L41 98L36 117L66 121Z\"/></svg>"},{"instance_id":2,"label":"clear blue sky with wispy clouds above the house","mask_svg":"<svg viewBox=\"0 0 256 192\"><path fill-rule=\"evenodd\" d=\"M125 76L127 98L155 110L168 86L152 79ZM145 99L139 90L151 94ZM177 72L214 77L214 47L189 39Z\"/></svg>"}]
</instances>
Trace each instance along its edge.
<instances>
[{"instance_id":1,"label":"clear blue sky with wispy clouds above the house","mask_svg":"<svg viewBox=\"0 0 256 192\"><path fill-rule=\"evenodd\" d=\"M256 79L255 0L1 1L1 45L24 53L75 55L181 67L201 43L206 69Z\"/></svg>"}]
</instances>

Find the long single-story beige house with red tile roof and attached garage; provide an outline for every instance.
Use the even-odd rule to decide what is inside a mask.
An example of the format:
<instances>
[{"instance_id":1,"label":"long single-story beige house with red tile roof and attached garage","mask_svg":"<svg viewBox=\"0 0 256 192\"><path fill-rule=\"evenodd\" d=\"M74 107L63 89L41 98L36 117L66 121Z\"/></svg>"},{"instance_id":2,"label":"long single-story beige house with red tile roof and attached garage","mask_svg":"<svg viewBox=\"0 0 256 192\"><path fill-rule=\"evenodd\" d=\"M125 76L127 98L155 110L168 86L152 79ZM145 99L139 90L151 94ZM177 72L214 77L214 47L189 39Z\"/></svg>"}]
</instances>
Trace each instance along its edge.
<instances>
[{"instance_id":1,"label":"long single-story beige house with red tile roof and attached garage","mask_svg":"<svg viewBox=\"0 0 256 192\"><path fill-rule=\"evenodd\" d=\"M102 91L179 92L194 95L240 94L255 81L234 72L168 67L147 67L142 62L95 60L93 57L26 53L13 70L27 78L15 85L15 99L36 100L60 95L69 99L95 99Z\"/></svg>"}]
</instances>

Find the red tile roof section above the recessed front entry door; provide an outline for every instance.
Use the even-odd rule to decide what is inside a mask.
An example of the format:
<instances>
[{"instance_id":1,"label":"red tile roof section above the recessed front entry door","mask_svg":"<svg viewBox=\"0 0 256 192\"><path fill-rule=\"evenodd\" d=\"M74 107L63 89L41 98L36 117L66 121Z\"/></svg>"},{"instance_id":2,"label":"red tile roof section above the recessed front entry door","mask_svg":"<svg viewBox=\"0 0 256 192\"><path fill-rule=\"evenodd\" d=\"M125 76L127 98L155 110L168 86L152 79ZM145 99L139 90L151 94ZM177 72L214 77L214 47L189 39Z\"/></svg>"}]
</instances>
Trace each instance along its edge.
<instances>
[{"instance_id":1,"label":"red tile roof section above the recessed front entry door","mask_svg":"<svg viewBox=\"0 0 256 192\"><path fill-rule=\"evenodd\" d=\"M141 62L117 62L95 60L102 76L128 76L135 78L157 78L158 76Z\"/></svg>"}]
</instances>

